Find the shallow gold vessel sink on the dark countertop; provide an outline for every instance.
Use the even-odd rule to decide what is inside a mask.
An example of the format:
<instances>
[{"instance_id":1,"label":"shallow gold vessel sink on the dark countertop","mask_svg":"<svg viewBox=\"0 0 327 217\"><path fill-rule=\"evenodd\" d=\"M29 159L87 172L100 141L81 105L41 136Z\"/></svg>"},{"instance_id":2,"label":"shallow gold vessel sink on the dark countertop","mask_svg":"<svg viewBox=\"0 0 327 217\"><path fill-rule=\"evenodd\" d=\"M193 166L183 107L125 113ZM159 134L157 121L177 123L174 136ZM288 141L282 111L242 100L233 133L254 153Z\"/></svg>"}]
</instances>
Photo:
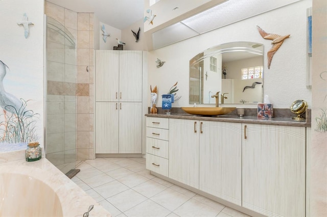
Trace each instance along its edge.
<instances>
[{"instance_id":1,"label":"shallow gold vessel sink on the dark countertop","mask_svg":"<svg viewBox=\"0 0 327 217\"><path fill-rule=\"evenodd\" d=\"M186 113L191 115L216 116L227 115L236 107L181 107Z\"/></svg>"}]
</instances>

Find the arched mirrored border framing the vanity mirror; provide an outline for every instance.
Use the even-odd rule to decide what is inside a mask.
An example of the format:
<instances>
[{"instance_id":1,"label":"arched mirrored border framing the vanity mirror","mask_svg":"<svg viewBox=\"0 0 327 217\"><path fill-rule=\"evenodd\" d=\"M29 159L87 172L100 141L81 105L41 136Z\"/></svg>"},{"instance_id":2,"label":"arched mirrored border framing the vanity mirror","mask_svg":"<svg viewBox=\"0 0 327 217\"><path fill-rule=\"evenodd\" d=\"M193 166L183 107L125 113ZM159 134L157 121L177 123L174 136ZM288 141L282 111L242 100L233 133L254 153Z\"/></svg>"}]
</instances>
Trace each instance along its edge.
<instances>
[{"instance_id":1,"label":"arched mirrored border framing the vanity mirror","mask_svg":"<svg viewBox=\"0 0 327 217\"><path fill-rule=\"evenodd\" d=\"M190 68L189 68L189 103L190 104L212 104L212 103L202 103L199 101L191 101L191 79L193 77L191 77L191 67L194 66L195 64L200 63L201 61L203 61L206 58L212 57L214 55L219 55L219 54L223 54L223 53L227 53L227 52L249 52L249 53L253 53L255 55L258 56L262 56L262 59L264 57L264 44L261 43L256 43L256 42L249 42L249 41L237 41L237 42L227 42L227 43L223 43L220 45L216 45L210 48L207 48L205 50L203 50L202 52L198 53L198 55L194 56L191 60L190 60ZM203 53L203 55L201 55ZM262 66L264 65L264 61L262 62ZM263 77L262 77L263 78ZM263 84L264 81L262 80L262 96L261 96L261 100L263 100ZM200 85L201 87L201 85ZM259 101L260 102L260 101ZM224 104L256 104L258 102L232 102L232 103L224 103Z\"/></svg>"}]
</instances>

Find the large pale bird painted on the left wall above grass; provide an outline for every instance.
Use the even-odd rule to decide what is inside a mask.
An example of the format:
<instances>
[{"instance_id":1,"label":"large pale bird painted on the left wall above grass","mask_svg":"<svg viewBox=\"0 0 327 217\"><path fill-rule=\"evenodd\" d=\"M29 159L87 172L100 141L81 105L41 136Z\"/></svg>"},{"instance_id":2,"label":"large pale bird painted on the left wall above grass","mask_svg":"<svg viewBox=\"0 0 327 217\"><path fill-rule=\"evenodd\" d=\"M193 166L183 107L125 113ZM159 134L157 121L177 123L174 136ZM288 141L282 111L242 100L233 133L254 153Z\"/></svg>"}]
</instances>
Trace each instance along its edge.
<instances>
[{"instance_id":1,"label":"large pale bird painted on the left wall above grass","mask_svg":"<svg viewBox=\"0 0 327 217\"><path fill-rule=\"evenodd\" d=\"M2 107L4 114L10 112L11 114L20 113L26 117L31 117L31 111L21 111L22 102L14 95L5 91L3 80L6 75L8 66L0 60L0 107ZM9 69L9 68L8 68Z\"/></svg>"}]
</instances>

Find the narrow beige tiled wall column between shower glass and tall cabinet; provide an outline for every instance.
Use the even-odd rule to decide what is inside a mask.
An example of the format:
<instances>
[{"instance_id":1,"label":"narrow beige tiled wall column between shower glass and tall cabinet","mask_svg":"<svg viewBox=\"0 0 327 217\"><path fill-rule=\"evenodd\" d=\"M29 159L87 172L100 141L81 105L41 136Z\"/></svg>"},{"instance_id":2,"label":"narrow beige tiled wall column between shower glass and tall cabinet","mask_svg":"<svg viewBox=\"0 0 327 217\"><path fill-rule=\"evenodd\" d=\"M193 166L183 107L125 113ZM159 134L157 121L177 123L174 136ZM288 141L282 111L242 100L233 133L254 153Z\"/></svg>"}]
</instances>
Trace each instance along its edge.
<instances>
[{"instance_id":1,"label":"narrow beige tiled wall column between shower glass and tall cabinet","mask_svg":"<svg viewBox=\"0 0 327 217\"><path fill-rule=\"evenodd\" d=\"M77 13L77 160L94 159L93 23L94 14Z\"/></svg>"}]
</instances>

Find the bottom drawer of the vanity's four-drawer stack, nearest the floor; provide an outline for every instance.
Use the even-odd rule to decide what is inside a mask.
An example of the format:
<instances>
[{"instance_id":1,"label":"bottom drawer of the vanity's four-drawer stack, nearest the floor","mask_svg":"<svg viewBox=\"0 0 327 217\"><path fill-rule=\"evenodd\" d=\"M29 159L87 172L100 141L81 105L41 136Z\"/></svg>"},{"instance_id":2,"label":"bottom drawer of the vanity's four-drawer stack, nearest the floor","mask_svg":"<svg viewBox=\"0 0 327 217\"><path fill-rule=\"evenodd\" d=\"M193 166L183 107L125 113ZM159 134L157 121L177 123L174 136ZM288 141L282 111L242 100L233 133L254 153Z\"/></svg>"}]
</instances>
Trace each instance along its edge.
<instances>
[{"instance_id":1,"label":"bottom drawer of the vanity's four-drawer stack, nearest the floor","mask_svg":"<svg viewBox=\"0 0 327 217\"><path fill-rule=\"evenodd\" d=\"M146 167L155 173L168 177L168 159L147 154Z\"/></svg>"}]
</instances>

